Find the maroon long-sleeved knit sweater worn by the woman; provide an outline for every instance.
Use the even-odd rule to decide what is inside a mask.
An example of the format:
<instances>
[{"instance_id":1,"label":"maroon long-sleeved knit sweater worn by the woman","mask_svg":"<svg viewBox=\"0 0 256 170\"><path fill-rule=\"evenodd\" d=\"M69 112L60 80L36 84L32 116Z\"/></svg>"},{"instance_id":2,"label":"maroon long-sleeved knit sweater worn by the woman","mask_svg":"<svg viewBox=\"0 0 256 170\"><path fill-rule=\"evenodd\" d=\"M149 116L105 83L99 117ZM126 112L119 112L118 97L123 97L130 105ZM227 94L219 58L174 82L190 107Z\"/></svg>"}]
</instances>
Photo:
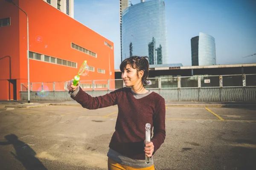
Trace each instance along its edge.
<instances>
[{"instance_id":1,"label":"maroon long-sleeved knit sweater worn by the woman","mask_svg":"<svg viewBox=\"0 0 256 170\"><path fill-rule=\"evenodd\" d=\"M80 88L73 99L87 109L118 106L115 132L109 147L124 156L145 159L143 142L146 123L151 124L151 130L154 126L154 135L151 139L154 153L165 139L165 101L157 93L152 92L148 96L136 99L131 93L131 88L120 88L104 96L92 97Z\"/></svg>"}]
</instances>

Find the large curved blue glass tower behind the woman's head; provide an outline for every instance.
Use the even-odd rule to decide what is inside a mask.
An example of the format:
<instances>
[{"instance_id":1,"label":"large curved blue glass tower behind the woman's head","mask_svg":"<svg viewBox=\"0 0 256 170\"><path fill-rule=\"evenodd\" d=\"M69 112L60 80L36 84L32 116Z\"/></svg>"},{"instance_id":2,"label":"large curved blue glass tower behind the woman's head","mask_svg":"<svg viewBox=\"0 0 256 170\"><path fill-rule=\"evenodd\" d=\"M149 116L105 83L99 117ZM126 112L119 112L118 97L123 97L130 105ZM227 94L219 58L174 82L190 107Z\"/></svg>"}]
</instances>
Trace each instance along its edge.
<instances>
[{"instance_id":1,"label":"large curved blue glass tower behind the woman's head","mask_svg":"<svg viewBox=\"0 0 256 170\"><path fill-rule=\"evenodd\" d=\"M163 0L148 0L122 12L122 59L148 56L149 64L169 64Z\"/></svg>"}]
</instances>

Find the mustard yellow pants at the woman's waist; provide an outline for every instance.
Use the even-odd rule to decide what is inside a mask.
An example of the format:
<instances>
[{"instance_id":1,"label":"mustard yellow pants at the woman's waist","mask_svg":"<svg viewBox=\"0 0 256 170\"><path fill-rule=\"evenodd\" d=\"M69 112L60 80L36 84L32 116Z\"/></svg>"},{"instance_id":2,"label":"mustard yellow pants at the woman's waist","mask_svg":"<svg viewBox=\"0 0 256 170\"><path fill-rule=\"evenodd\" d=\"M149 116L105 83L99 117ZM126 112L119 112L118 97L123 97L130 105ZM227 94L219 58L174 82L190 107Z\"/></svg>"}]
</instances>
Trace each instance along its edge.
<instances>
[{"instance_id":1,"label":"mustard yellow pants at the woman's waist","mask_svg":"<svg viewBox=\"0 0 256 170\"><path fill-rule=\"evenodd\" d=\"M154 170L154 165L143 168L129 167L123 164L118 164L112 159L108 158L108 170Z\"/></svg>"}]
</instances>

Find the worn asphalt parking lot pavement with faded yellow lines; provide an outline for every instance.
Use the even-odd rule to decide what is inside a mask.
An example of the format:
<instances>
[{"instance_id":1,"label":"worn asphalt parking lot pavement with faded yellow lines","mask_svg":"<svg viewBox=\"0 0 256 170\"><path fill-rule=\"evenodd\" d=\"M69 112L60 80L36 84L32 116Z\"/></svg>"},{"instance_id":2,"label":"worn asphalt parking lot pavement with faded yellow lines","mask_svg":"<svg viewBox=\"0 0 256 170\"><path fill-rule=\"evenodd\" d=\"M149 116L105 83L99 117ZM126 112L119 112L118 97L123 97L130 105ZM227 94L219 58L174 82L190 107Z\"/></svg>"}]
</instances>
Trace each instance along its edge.
<instances>
[{"instance_id":1,"label":"worn asphalt parking lot pavement with faded yellow lines","mask_svg":"<svg viewBox=\"0 0 256 170\"><path fill-rule=\"evenodd\" d=\"M117 106L53 105L61 103L0 105L1 170L107 170ZM256 108L200 104L166 107L166 139L153 156L156 170L255 170Z\"/></svg>"}]
</instances>

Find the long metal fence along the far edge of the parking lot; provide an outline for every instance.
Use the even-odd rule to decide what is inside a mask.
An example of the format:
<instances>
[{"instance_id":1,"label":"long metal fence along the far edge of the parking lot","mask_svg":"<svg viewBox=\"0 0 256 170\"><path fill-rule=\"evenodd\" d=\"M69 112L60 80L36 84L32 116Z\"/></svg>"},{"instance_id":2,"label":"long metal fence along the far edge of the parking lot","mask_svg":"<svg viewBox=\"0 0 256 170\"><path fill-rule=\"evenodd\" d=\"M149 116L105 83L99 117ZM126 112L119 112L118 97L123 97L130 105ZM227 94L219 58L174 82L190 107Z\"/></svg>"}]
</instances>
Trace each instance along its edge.
<instances>
[{"instance_id":1,"label":"long metal fence along the far edge of the parking lot","mask_svg":"<svg viewBox=\"0 0 256 170\"><path fill-rule=\"evenodd\" d=\"M122 79L80 81L91 96L101 96L124 87ZM30 100L72 100L67 82L31 83ZM20 99L27 100L27 84L21 83ZM256 101L256 74L150 78L148 90L166 101Z\"/></svg>"}]
</instances>

